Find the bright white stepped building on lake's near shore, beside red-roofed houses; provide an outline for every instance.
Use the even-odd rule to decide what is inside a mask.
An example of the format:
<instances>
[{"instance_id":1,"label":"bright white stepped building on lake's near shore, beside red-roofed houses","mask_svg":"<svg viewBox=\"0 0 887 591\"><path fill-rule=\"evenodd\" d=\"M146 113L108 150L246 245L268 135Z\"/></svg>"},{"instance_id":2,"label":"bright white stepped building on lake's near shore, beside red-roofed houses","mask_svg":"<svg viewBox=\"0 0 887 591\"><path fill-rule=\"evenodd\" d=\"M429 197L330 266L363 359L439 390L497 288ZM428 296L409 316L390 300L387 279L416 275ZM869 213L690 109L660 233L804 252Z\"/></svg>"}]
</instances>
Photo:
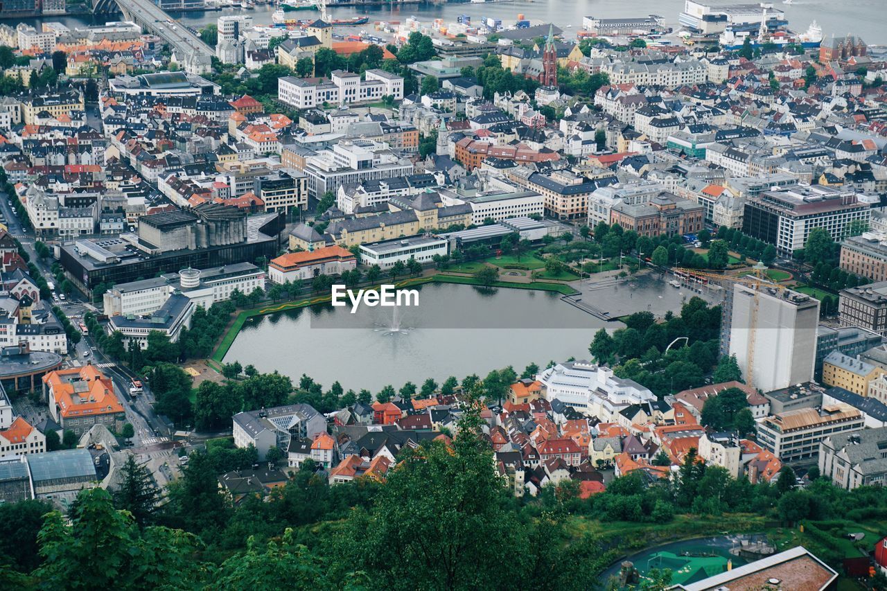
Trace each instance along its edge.
<instances>
[{"instance_id":1,"label":"bright white stepped building on lake's near shore, beside red-roofed houses","mask_svg":"<svg viewBox=\"0 0 887 591\"><path fill-rule=\"evenodd\" d=\"M616 377L607 366L589 361L565 361L549 367L536 379L547 400L558 399L601 422L614 422L626 406L651 402L655 394L638 382Z\"/></svg>"}]
</instances>

